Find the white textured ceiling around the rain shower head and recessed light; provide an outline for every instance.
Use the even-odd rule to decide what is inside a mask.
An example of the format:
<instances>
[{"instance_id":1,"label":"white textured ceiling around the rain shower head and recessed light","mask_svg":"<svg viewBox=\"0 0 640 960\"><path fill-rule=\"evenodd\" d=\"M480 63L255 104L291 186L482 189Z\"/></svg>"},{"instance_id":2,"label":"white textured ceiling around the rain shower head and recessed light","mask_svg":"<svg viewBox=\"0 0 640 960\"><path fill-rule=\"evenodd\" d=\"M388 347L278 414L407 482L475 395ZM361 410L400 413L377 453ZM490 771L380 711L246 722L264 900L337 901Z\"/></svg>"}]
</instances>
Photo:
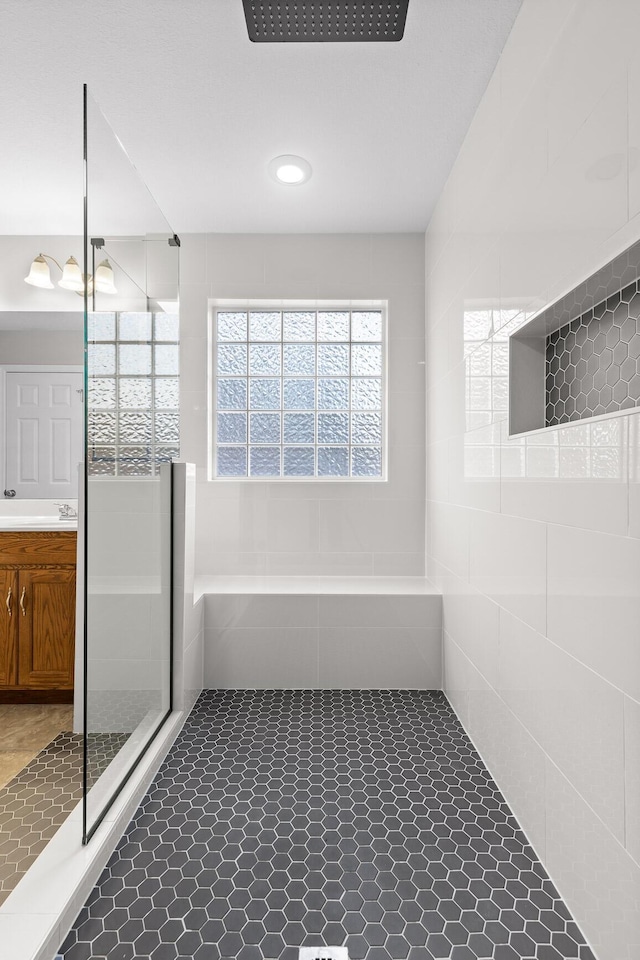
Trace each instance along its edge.
<instances>
[{"instance_id":1,"label":"white textured ceiling around the rain shower head and recessed light","mask_svg":"<svg viewBox=\"0 0 640 960\"><path fill-rule=\"evenodd\" d=\"M178 233L424 230L520 3L410 0L400 43L252 44L241 0L1 0L0 234L82 232L83 82ZM285 153L308 184L270 180Z\"/></svg>"}]
</instances>

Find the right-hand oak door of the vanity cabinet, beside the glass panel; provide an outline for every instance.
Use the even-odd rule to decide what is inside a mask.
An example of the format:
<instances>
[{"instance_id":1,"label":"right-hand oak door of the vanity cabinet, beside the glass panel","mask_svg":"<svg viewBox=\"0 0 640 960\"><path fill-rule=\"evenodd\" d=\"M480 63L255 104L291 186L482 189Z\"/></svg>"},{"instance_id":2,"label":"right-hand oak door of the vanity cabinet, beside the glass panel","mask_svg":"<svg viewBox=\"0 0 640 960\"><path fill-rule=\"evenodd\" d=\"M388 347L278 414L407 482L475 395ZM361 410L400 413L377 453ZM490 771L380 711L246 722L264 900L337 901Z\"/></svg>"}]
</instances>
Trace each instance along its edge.
<instances>
[{"instance_id":1,"label":"right-hand oak door of the vanity cabinet, beside the glass panel","mask_svg":"<svg viewBox=\"0 0 640 960\"><path fill-rule=\"evenodd\" d=\"M75 570L21 570L18 683L36 690L73 686Z\"/></svg>"}]
</instances>

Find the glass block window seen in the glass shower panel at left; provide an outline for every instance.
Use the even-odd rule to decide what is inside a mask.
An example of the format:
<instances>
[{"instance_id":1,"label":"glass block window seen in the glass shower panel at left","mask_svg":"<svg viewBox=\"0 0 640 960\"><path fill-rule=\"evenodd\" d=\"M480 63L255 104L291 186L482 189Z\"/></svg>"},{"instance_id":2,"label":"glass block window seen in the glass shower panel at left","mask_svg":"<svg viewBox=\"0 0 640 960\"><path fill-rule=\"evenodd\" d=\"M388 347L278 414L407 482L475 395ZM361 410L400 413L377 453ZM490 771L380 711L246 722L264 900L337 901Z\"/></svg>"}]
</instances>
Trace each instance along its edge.
<instances>
[{"instance_id":1,"label":"glass block window seen in the glass shower panel at left","mask_svg":"<svg viewBox=\"0 0 640 960\"><path fill-rule=\"evenodd\" d=\"M91 313L87 468L153 477L180 455L179 321L168 313Z\"/></svg>"}]
</instances>

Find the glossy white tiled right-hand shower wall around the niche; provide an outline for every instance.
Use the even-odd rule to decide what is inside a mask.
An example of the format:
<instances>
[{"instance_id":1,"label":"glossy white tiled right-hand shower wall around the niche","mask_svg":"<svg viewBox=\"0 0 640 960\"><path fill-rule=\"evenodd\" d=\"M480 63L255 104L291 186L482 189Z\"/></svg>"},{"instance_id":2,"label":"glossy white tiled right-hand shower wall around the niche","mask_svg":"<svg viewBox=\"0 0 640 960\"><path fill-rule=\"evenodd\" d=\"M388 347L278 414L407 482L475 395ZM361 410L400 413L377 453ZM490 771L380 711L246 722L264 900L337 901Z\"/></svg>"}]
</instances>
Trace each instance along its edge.
<instances>
[{"instance_id":1,"label":"glossy white tiled right-hand shower wall around the niche","mask_svg":"<svg viewBox=\"0 0 640 960\"><path fill-rule=\"evenodd\" d=\"M425 245L444 685L599 960L640 955L640 414L509 440L464 339L640 236L639 28L634 0L524 0Z\"/></svg>"}]
</instances>

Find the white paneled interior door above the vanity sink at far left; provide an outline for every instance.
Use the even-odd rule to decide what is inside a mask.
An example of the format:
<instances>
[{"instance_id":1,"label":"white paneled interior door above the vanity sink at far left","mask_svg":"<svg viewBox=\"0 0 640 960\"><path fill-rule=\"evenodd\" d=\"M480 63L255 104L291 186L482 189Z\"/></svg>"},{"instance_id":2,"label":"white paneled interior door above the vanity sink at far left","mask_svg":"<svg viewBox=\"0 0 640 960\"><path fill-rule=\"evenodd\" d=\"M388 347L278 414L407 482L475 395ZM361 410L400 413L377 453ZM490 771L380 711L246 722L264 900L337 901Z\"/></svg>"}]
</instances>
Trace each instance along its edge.
<instances>
[{"instance_id":1,"label":"white paneled interior door above the vanity sink at far left","mask_svg":"<svg viewBox=\"0 0 640 960\"><path fill-rule=\"evenodd\" d=\"M7 372L5 488L42 500L78 496L81 373Z\"/></svg>"}]
</instances>

